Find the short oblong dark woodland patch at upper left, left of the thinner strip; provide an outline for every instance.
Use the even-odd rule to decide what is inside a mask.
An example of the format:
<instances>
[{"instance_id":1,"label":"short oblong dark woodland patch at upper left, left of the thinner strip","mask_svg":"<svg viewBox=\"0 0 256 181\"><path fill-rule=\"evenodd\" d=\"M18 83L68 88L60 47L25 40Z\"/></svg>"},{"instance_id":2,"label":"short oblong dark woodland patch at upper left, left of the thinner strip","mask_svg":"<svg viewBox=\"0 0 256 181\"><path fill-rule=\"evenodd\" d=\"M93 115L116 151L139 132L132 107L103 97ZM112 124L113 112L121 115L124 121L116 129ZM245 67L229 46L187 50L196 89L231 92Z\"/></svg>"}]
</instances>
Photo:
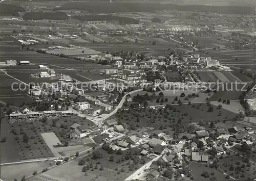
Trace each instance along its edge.
<instances>
[{"instance_id":1,"label":"short oblong dark woodland patch at upper left, left of the thinner strip","mask_svg":"<svg viewBox=\"0 0 256 181\"><path fill-rule=\"evenodd\" d=\"M62 12L54 12L54 13L27 12L24 14L23 19L26 19L26 20L40 20L40 19L66 20L66 19L69 19L69 16L66 13L62 13Z\"/></svg>"}]
</instances>

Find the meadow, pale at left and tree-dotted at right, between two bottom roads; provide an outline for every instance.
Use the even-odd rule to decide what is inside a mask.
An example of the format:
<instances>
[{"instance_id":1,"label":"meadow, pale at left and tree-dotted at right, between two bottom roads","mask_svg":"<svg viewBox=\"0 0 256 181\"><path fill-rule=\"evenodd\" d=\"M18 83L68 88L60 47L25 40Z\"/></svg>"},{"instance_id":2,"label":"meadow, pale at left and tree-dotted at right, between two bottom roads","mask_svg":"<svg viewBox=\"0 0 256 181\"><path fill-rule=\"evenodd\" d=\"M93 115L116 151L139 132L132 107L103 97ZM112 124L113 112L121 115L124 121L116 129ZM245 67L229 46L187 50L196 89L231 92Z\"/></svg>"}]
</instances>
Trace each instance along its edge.
<instances>
[{"instance_id":1,"label":"meadow, pale at left and tree-dotted at right, between two bottom roads","mask_svg":"<svg viewBox=\"0 0 256 181\"><path fill-rule=\"evenodd\" d=\"M97 149L97 151L102 154L102 158L94 160L92 155L82 158L82 160L85 161L85 166L88 165L88 170L86 172L82 172L83 166L78 165L80 159L74 159L67 164L60 165L40 175L45 175L48 178L55 178L57 180L124 180L133 173L134 170L130 171L129 169L129 166L132 163L131 160L127 161L124 159L121 163L116 162L118 159L125 157L127 151L123 151L121 155L116 153L109 154L106 150L101 148ZM114 157L113 162L109 161L111 156ZM149 159L144 159L145 162L149 161ZM138 167L140 166L142 166L142 164L138 163ZM36 178L43 179L39 176L36 176L35 179ZM34 179L31 178L31 180Z\"/></svg>"}]
</instances>

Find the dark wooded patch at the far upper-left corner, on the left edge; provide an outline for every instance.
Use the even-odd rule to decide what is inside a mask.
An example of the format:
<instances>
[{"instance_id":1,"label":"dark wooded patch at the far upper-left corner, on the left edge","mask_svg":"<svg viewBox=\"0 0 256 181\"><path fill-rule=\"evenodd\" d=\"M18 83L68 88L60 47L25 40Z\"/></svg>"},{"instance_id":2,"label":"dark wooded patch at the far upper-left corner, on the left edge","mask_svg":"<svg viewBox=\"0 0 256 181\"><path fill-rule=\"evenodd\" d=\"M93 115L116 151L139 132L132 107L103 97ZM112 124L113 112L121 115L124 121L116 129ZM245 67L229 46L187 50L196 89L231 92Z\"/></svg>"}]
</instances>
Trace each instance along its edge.
<instances>
[{"instance_id":1,"label":"dark wooded patch at the far upper-left corner, on the left edge","mask_svg":"<svg viewBox=\"0 0 256 181\"><path fill-rule=\"evenodd\" d=\"M18 12L26 12L23 7L0 3L0 16L19 16Z\"/></svg>"}]
</instances>

